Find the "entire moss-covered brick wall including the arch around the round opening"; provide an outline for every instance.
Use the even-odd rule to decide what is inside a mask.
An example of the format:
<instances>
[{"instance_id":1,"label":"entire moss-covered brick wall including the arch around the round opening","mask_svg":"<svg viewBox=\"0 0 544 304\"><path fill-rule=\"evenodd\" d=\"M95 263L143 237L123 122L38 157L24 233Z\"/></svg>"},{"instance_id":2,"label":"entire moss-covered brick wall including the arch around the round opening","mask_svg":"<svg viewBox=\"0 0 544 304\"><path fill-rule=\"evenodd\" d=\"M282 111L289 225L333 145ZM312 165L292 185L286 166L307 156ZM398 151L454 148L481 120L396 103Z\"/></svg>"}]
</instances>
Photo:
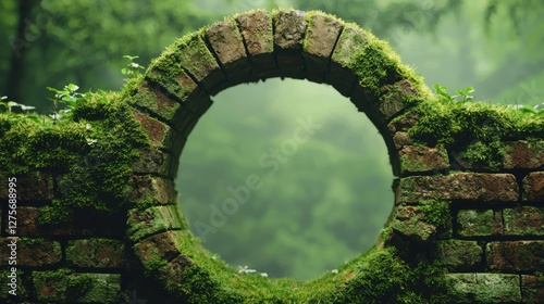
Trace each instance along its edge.
<instances>
[{"instance_id":1,"label":"entire moss-covered brick wall including the arch around the round opening","mask_svg":"<svg viewBox=\"0 0 544 304\"><path fill-rule=\"evenodd\" d=\"M269 77L332 85L396 176L375 246L310 281L230 268L174 190L210 96ZM321 12L226 17L55 124L1 114L0 177L2 303L544 302L544 115L438 99L386 42Z\"/></svg>"}]
</instances>

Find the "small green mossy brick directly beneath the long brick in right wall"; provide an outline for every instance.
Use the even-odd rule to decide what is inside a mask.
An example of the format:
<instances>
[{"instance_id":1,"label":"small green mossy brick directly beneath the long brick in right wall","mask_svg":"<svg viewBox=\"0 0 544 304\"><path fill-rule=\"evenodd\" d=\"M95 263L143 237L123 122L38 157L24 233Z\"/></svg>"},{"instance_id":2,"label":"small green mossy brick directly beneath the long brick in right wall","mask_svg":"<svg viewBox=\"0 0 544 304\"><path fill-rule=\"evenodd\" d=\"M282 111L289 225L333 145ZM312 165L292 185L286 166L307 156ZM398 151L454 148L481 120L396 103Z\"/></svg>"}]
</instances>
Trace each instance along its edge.
<instances>
[{"instance_id":1,"label":"small green mossy brick directly beneath the long brick in right wall","mask_svg":"<svg viewBox=\"0 0 544 304\"><path fill-rule=\"evenodd\" d=\"M500 212L461 210L457 215L457 233L461 237L489 237L503 233Z\"/></svg>"}]
</instances>

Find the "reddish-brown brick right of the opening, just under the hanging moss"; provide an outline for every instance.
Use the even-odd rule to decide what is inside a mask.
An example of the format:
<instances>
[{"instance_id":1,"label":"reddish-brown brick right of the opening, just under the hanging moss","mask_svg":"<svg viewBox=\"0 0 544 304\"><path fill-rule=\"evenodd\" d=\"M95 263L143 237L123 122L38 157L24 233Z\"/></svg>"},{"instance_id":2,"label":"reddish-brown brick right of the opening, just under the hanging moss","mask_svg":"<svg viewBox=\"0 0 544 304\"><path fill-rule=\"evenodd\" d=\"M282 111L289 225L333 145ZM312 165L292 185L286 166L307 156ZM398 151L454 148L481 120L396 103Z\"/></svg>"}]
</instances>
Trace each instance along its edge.
<instances>
[{"instance_id":1,"label":"reddish-brown brick right of the opening, just under the hanging moss","mask_svg":"<svg viewBox=\"0 0 544 304\"><path fill-rule=\"evenodd\" d=\"M405 145L398 154L403 174L431 172L449 167L447 151L443 147Z\"/></svg>"}]
</instances>

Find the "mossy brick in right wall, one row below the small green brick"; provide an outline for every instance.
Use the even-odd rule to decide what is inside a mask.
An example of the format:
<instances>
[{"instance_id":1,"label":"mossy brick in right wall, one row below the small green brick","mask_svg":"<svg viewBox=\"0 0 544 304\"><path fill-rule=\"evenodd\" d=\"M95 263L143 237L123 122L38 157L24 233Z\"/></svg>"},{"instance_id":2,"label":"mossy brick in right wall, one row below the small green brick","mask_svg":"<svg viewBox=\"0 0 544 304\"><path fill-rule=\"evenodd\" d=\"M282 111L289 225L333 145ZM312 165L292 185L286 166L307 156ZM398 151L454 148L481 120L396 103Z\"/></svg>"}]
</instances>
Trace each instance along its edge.
<instances>
[{"instance_id":1,"label":"mossy brick in right wall, one row below the small green brick","mask_svg":"<svg viewBox=\"0 0 544 304\"><path fill-rule=\"evenodd\" d=\"M473 270L482 265L483 250L475 241L437 242L437 259L452 271Z\"/></svg>"}]
</instances>

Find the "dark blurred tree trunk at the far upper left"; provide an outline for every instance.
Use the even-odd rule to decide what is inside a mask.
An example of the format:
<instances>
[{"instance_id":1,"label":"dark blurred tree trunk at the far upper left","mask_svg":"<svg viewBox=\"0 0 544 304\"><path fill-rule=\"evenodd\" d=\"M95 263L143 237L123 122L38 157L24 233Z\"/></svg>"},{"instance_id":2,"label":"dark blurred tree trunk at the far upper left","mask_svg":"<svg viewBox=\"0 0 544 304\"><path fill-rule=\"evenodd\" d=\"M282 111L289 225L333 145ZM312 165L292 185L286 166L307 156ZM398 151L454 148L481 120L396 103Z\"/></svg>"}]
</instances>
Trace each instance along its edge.
<instances>
[{"instance_id":1,"label":"dark blurred tree trunk at the far upper left","mask_svg":"<svg viewBox=\"0 0 544 304\"><path fill-rule=\"evenodd\" d=\"M10 41L13 52L10 71L8 72L7 88L4 91L10 100L20 103L25 103L21 100L21 89L25 72L26 51L32 45L32 42L27 40L29 37L26 36L33 36L32 38L35 38L36 35L38 35L37 33L32 33L32 11L37 3L37 0L20 1L17 33L12 41Z\"/></svg>"}]
</instances>

